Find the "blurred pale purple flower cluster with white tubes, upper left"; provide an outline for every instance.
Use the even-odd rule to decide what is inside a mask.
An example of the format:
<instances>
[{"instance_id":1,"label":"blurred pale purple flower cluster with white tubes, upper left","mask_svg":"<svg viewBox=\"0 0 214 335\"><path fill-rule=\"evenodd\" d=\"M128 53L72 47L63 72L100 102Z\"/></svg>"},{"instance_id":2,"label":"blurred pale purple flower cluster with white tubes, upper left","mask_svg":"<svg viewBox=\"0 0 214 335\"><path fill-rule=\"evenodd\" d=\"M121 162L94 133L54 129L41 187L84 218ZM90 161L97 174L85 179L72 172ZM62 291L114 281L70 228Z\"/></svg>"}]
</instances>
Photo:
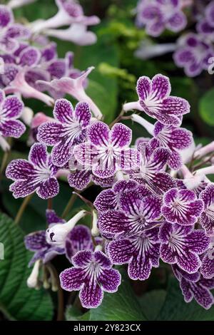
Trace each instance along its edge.
<instances>
[{"instance_id":1,"label":"blurred pale purple flower cluster with white tubes, upper left","mask_svg":"<svg viewBox=\"0 0 214 335\"><path fill-rule=\"evenodd\" d=\"M6 138L19 138L25 131L24 124L16 118L21 117L27 125L31 124L33 112L24 108L21 98L35 98L54 105L54 99L68 93L78 101L89 103L93 113L99 118L102 116L85 92L87 76L93 68L83 72L74 68L72 52L58 58L56 43L49 41L47 33L44 35L47 26L42 26L41 21L26 26L15 22L12 9L28 2L11 0L8 6L0 6L0 145L3 150L9 150ZM49 29L68 24L67 33L73 43L85 45L96 41L96 35L86 31L88 25L99 23L96 16L84 16L82 7L74 0L56 1L56 4L58 14L44 21L46 25L49 22ZM16 96L8 96L4 102L8 94Z\"/></svg>"}]
</instances>

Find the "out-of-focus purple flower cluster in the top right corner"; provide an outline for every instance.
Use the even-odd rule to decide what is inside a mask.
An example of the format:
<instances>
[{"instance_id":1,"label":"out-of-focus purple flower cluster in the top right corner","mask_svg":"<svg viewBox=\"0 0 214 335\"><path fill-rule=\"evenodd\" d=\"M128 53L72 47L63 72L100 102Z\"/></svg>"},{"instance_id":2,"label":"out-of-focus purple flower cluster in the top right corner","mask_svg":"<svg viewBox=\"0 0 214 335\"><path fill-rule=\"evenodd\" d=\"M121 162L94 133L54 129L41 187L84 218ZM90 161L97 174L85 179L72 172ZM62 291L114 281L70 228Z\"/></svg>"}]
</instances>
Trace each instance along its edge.
<instances>
[{"instance_id":1,"label":"out-of-focus purple flower cluster in the top right corner","mask_svg":"<svg viewBox=\"0 0 214 335\"><path fill-rule=\"evenodd\" d=\"M183 33L175 44L165 43L150 46L149 52L145 51L147 48L142 44L142 48L136 52L136 56L145 59L174 51L175 64L183 68L187 76L194 77L203 70L208 71L209 60L212 60L214 56L214 1L208 1L207 6L202 4L198 13L197 4L194 5L194 1L139 1L137 24L138 26L146 26L146 32L150 36L160 36L165 28L178 33L178 31L185 29L187 24L183 12L187 6L192 21L196 21L195 31Z\"/></svg>"}]
</instances>

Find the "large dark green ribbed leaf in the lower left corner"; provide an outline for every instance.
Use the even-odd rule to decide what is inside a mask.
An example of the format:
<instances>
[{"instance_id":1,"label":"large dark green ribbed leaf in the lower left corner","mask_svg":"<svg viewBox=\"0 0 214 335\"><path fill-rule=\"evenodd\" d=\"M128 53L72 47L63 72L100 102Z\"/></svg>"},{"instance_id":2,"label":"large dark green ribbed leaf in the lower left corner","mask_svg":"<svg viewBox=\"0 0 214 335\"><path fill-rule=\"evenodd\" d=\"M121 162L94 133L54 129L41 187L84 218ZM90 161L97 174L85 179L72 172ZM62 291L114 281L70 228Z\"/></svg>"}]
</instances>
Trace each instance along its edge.
<instances>
[{"instance_id":1,"label":"large dark green ribbed leaf in the lower left corner","mask_svg":"<svg viewBox=\"0 0 214 335\"><path fill-rule=\"evenodd\" d=\"M51 320L53 304L49 294L44 289L36 291L26 286L32 255L24 247L24 234L1 213L0 241L4 244L4 259L0 260L1 311L14 320Z\"/></svg>"}]
</instances>

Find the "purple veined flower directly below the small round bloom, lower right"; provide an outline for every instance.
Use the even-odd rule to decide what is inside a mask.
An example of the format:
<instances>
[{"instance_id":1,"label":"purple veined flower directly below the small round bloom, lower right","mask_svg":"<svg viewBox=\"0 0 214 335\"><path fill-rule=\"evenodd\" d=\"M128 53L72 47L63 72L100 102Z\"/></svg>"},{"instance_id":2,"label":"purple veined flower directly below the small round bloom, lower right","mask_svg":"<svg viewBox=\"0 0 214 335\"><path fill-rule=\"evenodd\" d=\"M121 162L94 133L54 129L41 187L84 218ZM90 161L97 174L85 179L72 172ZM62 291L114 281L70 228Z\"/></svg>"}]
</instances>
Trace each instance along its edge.
<instances>
[{"instance_id":1,"label":"purple veined flower directly below the small round bloom, lower right","mask_svg":"<svg viewBox=\"0 0 214 335\"><path fill-rule=\"evenodd\" d=\"M191 226L163 223L159 239L161 242L161 259L168 264L178 264L180 269L193 274L201 266L200 254L210 244L210 237L203 230L193 230Z\"/></svg>"}]
</instances>

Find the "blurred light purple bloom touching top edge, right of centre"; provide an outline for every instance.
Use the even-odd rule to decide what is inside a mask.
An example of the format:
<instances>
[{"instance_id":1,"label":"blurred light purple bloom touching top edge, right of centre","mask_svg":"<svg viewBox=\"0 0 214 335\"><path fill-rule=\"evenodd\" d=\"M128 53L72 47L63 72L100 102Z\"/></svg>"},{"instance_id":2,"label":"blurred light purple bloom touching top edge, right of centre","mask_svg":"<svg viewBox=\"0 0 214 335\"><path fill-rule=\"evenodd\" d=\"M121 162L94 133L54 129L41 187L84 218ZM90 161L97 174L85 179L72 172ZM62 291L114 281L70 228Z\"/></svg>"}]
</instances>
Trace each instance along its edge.
<instances>
[{"instance_id":1,"label":"blurred light purple bloom touching top edge, right of centre","mask_svg":"<svg viewBox=\"0 0 214 335\"><path fill-rule=\"evenodd\" d=\"M151 36L159 36L165 29L177 33L187 24L182 5L181 0L140 0L137 25L146 26L146 32Z\"/></svg>"}]
</instances>

